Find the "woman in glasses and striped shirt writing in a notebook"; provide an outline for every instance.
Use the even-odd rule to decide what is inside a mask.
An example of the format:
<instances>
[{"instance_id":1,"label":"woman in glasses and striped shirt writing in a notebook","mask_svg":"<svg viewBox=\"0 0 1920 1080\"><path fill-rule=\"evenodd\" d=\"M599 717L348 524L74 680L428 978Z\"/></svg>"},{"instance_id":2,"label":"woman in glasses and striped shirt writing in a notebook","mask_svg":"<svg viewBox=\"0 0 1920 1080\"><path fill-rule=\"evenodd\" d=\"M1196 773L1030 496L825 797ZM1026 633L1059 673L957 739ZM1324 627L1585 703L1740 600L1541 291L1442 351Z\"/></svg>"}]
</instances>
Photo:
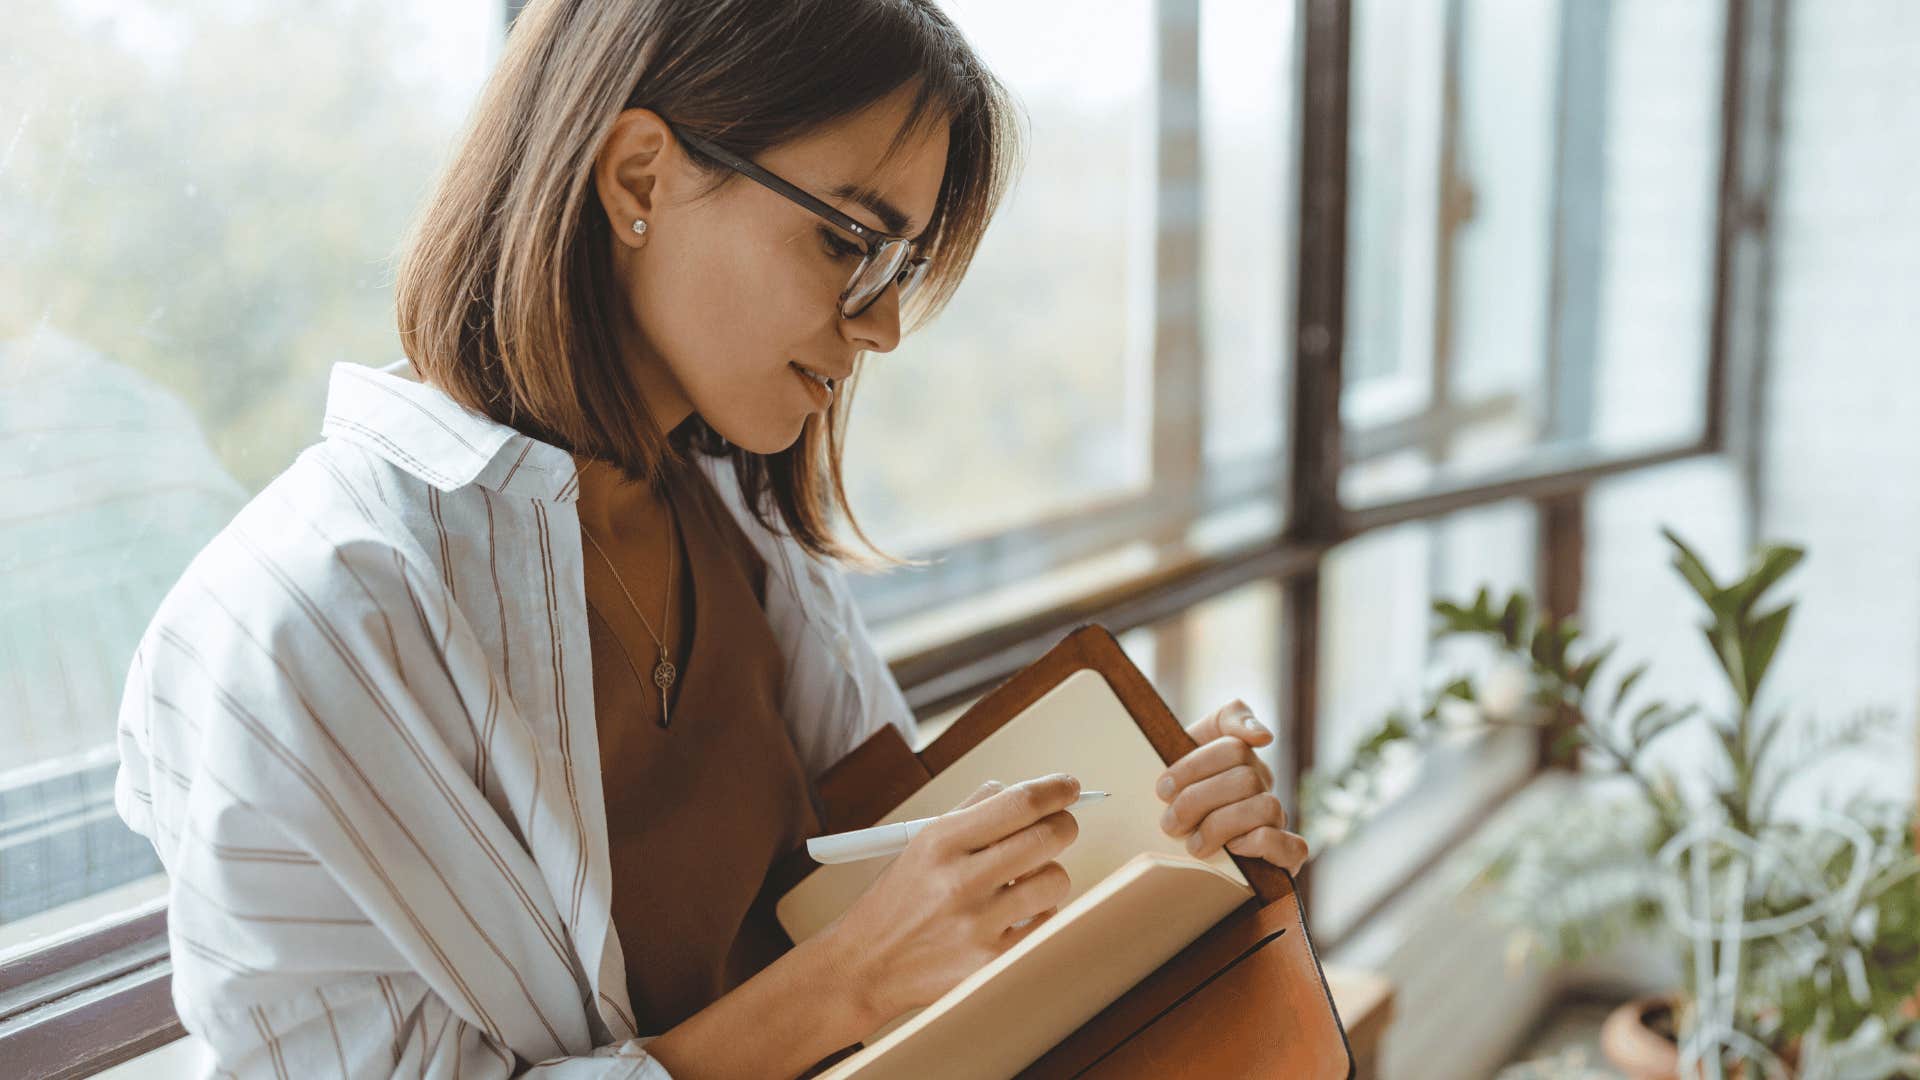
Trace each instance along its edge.
<instances>
[{"instance_id":1,"label":"woman in glasses and striped shirt writing in a notebook","mask_svg":"<svg viewBox=\"0 0 1920 1080\"><path fill-rule=\"evenodd\" d=\"M931 0L520 15L401 265L409 361L336 365L134 653L117 805L223 1074L793 1076L1056 909L1068 776L975 792L797 947L762 896L812 780L912 734L837 432L966 271L1008 117ZM1192 730L1167 832L1298 867L1271 734Z\"/></svg>"}]
</instances>

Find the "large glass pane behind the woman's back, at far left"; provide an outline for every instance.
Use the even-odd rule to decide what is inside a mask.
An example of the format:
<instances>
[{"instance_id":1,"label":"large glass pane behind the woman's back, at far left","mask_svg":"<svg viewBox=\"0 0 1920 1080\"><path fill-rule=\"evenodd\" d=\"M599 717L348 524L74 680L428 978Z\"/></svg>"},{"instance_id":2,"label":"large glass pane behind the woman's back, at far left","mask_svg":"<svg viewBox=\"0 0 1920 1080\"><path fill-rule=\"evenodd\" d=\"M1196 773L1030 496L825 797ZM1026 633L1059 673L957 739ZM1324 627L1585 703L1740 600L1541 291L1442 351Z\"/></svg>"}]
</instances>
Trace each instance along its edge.
<instances>
[{"instance_id":1,"label":"large glass pane behind the woman's back, at far left","mask_svg":"<svg viewBox=\"0 0 1920 1080\"><path fill-rule=\"evenodd\" d=\"M0 40L0 955L159 892L113 813L132 646L397 357L384 261L501 6L71 2Z\"/></svg>"}]
</instances>

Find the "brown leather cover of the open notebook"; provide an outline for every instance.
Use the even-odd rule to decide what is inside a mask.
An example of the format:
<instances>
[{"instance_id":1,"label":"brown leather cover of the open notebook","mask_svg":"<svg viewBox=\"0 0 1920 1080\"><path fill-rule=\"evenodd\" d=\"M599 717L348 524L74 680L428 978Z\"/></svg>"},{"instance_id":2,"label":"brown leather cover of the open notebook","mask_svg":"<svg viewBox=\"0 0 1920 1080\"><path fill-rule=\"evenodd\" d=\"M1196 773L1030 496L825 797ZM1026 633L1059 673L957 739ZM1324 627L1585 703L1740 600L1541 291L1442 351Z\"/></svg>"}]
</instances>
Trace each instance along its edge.
<instances>
[{"instance_id":1,"label":"brown leather cover of the open notebook","mask_svg":"<svg viewBox=\"0 0 1920 1080\"><path fill-rule=\"evenodd\" d=\"M1106 680L1162 761L1171 765L1194 749L1119 642L1104 626L1087 625L975 701L924 751L914 753L887 726L828 769L816 784L822 832L866 828L883 819L1008 719L1085 669ZM1263 859L1231 859L1254 888L1254 899L1021 1070L1021 1080L1354 1076L1346 1030L1308 938L1292 876ZM783 896L814 867L799 847L770 874L768 890ZM814 1072L856 1049L835 1053Z\"/></svg>"}]
</instances>

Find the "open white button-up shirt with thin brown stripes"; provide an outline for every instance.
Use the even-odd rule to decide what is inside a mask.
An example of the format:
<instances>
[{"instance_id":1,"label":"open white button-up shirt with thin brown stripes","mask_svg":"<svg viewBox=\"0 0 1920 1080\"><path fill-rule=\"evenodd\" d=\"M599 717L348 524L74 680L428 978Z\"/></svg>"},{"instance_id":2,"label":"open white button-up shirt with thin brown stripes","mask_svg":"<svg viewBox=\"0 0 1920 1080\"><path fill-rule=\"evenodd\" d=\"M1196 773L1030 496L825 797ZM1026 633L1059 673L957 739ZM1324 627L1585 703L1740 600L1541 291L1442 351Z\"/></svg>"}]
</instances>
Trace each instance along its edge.
<instances>
[{"instance_id":1,"label":"open white button-up shirt with thin brown stripes","mask_svg":"<svg viewBox=\"0 0 1920 1080\"><path fill-rule=\"evenodd\" d=\"M323 436L186 567L121 701L180 1022L219 1074L666 1080L611 922L572 455L405 361L334 365ZM808 776L912 742L841 571L695 459L766 559Z\"/></svg>"}]
</instances>

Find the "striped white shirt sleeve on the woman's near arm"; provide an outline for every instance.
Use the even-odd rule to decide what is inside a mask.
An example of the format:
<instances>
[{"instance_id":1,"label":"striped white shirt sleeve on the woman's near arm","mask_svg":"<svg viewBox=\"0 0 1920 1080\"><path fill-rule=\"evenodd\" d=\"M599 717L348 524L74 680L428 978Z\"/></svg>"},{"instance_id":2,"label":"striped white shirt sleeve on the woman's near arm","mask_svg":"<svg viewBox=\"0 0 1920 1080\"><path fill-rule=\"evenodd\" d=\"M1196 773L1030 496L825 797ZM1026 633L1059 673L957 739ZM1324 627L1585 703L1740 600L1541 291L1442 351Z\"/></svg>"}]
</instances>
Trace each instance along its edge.
<instances>
[{"instance_id":1,"label":"striped white shirt sleeve on the woman's near arm","mask_svg":"<svg viewBox=\"0 0 1920 1080\"><path fill-rule=\"evenodd\" d=\"M217 1076L672 1080L647 1038L593 1047L534 930L532 857L449 749L486 684L434 584L376 544L223 534L161 603L115 805L167 869L179 1019Z\"/></svg>"}]
</instances>

